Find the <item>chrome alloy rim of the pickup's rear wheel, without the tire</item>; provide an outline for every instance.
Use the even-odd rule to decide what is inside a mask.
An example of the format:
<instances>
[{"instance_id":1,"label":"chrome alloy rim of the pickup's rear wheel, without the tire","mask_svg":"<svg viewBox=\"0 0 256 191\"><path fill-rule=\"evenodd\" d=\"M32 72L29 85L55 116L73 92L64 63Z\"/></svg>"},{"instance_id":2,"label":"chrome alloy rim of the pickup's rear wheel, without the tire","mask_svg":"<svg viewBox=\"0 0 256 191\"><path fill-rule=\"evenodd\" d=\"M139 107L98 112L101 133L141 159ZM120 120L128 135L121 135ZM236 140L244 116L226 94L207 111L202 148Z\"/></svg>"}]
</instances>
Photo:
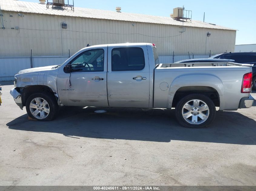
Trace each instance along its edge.
<instances>
[{"instance_id":1,"label":"chrome alloy rim of the pickup's rear wheel, without the tire","mask_svg":"<svg viewBox=\"0 0 256 191\"><path fill-rule=\"evenodd\" d=\"M209 107L202 100L189 100L182 107L182 116L190 124L201 124L209 117Z\"/></svg>"}]
</instances>

